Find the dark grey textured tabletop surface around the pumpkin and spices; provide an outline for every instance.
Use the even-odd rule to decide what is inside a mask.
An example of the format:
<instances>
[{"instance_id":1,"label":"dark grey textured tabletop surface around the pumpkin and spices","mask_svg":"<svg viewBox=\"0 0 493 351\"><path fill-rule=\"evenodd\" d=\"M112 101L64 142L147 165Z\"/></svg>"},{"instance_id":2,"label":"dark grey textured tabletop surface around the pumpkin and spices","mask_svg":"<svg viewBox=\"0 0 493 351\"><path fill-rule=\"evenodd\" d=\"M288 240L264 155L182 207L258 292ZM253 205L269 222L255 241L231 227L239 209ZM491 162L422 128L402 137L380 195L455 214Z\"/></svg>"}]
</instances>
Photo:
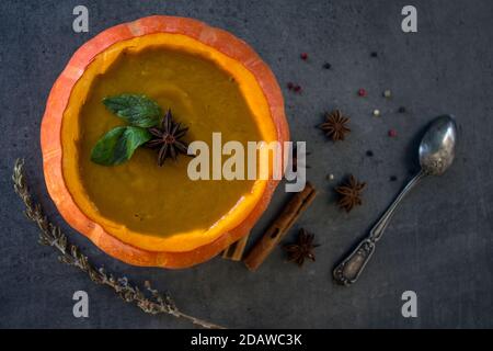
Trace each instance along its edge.
<instances>
[{"instance_id":1,"label":"dark grey textured tabletop surface around the pumpkin and spices","mask_svg":"<svg viewBox=\"0 0 493 351\"><path fill-rule=\"evenodd\" d=\"M12 191L14 159L26 159L28 181L48 215L98 264L169 290L184 312L229 327L493 327L492 132L493 2L410 1L419 33L401 31L408 1L1 1L0 2L0 327L184 328L170 316L148 316L36 244L37 229ZM72 32L72 9L85 4L90 33ZM49 89L72 53L106 27L150 14L204 20L250 43L283 87L293 139L308 140L308 177L319 196L296 227L322 245L302 270L276 250L256 273L216 258L183 271L117 262L59 217L46 194L39 122ZM307 52L307 63L299 54ZM378 57L370 57L377 52ZM323 70L323 63L332 64ZM302 94L287 91L299 82ZM356 97L358 88L369 97ZM381 98L391 89L392 100ZM408 113L399 114L400 105ZM352 116L344 143L314 128L321 113ZM380 109L381 118L371 117ZM460 145L454 167L428 179L402 204L360 281L335 286L335 261L389 204L416 168L416 138L434 116L454 113ZM395 128L397 138L387 132ZM375 152L372 158L366 150ZM368 182L364 206L334 204L333 186L347 173ZM326 174L333 173L330 182ZM398 181L390 182L389 177ZM260 235L287 199L283 188L256 225ZM294 228L286 240L293 240ZM90 296L90 317L72 316L72 294ZM419 318L401 316L401 294L419 296Z\"/></svg>"}]
</instances>

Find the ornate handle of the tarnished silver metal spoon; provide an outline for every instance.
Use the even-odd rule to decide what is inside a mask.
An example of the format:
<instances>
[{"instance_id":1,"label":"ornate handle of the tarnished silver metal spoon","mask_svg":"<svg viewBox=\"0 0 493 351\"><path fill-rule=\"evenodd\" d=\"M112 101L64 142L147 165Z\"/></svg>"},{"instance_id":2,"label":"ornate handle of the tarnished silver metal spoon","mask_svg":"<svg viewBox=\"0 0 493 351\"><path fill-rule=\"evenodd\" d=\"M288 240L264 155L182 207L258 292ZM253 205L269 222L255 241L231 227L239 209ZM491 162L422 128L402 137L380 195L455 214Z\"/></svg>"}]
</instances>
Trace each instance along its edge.
<instances>
[{"instance_id":1,"label":"ornate handle of the tarnished silver metal spoon","mask_svg":"<svg viewBox=\"0 0 493 351\"><path fill-rule=\"evenodd\" d=\"M371 254L375 251L375 245L380 240L383 230L387 228L390 218L395 213L398 205L401 203L402 199L410 192L411 189L416 185L426 172L421 170L414 178L408 183L408 185L402 189L401 193L395 197L395 200L387 208L386 213L380 217L377 224L371 228L369 235L359 242L356 249L343 260L333 272L334 280L336 283L342 285L351 285L358 279L362 274L363 269L366 263L368 263Z\"/></svg>"}]
</instances>

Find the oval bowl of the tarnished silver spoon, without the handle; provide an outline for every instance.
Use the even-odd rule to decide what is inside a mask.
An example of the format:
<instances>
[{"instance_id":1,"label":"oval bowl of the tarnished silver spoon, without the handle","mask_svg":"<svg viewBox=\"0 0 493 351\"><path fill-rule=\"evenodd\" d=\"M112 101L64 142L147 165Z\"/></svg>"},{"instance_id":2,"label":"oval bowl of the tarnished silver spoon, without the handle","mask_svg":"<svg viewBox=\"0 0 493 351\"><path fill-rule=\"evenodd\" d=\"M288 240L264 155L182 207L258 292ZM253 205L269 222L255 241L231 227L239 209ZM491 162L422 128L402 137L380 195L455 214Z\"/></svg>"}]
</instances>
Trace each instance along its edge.
<instances>
[{"instance_id":1,"label":"oval bowl of the tarnished silver spoon, without the handle","mask_svg":"<svg viewBox=\"0 0 493 351\"><path fill-rule=\"evenodd\" d=\"M420 165L429 176L440 176L456 155L457 125L451 115L437 117L428 126L420 144Z\"/></svg>"}]
</instances>

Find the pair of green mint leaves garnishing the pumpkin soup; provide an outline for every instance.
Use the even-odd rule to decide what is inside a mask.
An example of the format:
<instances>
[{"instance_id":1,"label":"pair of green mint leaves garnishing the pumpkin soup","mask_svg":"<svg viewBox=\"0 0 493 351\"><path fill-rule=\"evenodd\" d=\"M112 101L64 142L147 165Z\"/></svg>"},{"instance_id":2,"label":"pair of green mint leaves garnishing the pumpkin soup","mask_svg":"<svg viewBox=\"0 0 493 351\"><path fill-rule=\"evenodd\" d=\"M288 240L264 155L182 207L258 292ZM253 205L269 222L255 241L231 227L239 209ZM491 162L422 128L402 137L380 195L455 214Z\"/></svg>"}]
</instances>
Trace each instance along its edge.
<instances>
[{"instance_id":1,"label":"pair of green mint leaves garnishing the pumpkin soup","mask_svg":"<svg viewBox=\"0 0 493 351\"><path fill-rule=\"evenodd\" d=\"M102 166L116 166L128 161L135 150L149 141L147 128L160 122L161 107L146 95L121 94L103 99L103 104L129 126L118 126L107 132L91 151L91 160Z\"/></svg>"}]
</instances>

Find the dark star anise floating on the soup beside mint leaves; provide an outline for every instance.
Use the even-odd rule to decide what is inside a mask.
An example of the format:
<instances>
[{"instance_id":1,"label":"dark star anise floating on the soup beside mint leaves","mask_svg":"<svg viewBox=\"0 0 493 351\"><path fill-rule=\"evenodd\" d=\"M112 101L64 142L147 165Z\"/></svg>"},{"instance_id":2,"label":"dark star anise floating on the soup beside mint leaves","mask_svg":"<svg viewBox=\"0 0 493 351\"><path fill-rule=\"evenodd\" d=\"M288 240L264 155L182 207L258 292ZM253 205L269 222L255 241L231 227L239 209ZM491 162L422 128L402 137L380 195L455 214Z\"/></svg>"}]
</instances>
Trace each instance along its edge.
<instances>
[{"instance_id":1,"label":"dark star anise floating on the soup beside mint leaves","mask_svg":"<svg viewBox=\"0 0 493 351\"><path fill-rule=\"evenodd\" d=\"M152 134L152 139L147 141L146 145L152 149L159 149L159 166L162 166L167 158L176 160L180 154L186 155L188 145L181 140L181 138L188 128L182 128L180 123L173 121L171 110L168 110L159 127L152 127L148 131Z\"/></svg>"}]
</instances>

